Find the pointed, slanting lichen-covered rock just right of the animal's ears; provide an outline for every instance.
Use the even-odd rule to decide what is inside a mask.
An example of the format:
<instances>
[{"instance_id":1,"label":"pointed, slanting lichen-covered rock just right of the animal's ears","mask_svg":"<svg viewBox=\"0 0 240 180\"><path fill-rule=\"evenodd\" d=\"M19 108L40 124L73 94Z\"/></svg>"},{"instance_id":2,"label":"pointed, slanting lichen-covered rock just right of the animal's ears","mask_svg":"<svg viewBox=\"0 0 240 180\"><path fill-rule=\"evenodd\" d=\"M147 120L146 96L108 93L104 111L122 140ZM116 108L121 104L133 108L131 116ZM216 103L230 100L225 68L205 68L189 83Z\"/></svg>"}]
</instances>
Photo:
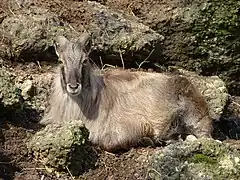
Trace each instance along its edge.
<instances>
[{"instance_id":1,"label":"pointed, slanting lichen-covered rock just right of the animal's ears","mask_svg":"<svg viewBox=\"0 0 240 180\"><path fill-rule=\"evenodd\" d=\"M133 16L97 2L89 1L88 4L94 19L90 30L95 33L93 41L100 51L110 52L119 58L120 53L147 51L147 46L153 48L154 44L164 39Z\"/></svg>"}]
</instances>

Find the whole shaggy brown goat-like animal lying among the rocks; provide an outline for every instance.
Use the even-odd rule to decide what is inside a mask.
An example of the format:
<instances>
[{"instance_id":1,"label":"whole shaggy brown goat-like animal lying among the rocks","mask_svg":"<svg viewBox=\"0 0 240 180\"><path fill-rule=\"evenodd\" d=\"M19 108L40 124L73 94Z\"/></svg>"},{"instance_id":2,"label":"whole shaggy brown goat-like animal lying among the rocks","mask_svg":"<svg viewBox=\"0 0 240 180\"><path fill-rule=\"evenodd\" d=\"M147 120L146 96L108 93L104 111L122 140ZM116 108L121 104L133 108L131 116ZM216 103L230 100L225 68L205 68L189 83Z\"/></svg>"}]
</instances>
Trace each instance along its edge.
<instances>
[{"instance_id":1,"label":"whole shaggy brown goat-like animal lying among the rocks","mask_svg":"<svg viewBox=\"0 0 240 180\"><path fill-rule=\"evenodd\" d=\"M128 149L144 137L154 142L175 133L210 137L207 104L185 77L124 70L98 75L88 62L87 43L86 34L76 43L58 38L63 65L41 123L82 120L90 141L107 151Z\"/></svg>"}]
</instances>

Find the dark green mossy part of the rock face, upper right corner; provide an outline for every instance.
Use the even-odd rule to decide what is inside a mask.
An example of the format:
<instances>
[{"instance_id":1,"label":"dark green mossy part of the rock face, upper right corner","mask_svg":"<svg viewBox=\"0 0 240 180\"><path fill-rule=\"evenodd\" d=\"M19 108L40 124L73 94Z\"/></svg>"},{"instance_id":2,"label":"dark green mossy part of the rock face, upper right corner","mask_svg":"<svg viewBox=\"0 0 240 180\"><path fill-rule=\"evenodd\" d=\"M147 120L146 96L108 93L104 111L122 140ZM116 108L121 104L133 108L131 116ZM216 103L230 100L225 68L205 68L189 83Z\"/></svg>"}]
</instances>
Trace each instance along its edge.
<instances>
[{"instance_id":1,"label":"dark green mossy part of the rock face, upper right corner","mask_svg":"<svg viewBox=\"0 0 240 180\"><path fill-rule=\"evenodd\" d=\"M204 75L219 75L231 94L240 92L240 2L195 0L182 9L188 34L178 48L182 67ZM179 34L180 35L180 34ZM177 37L176 37L177 38Z\"/></svg>"}]
</instances>

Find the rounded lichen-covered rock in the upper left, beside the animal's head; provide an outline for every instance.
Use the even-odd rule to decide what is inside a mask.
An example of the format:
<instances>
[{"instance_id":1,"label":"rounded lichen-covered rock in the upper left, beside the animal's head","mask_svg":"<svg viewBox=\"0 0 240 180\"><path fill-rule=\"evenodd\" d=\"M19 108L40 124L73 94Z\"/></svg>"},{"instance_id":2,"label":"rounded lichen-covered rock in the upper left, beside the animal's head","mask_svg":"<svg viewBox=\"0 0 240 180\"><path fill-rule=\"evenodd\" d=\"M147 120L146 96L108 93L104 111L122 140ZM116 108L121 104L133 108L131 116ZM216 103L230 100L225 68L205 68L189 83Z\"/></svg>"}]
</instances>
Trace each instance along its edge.
<instances>
[{"instance_id":1,"label":"rounded lichen-covered rock in the upper left, beside the animal's head","mask_svg":"<svg viewBox=\"0 0 240 180\"><path fill-rule=\"evenodd\" d=\"M4 18L1 26L5 48L0 50L0 56L17 60L53 58L48 48L53 45L55 36L74 34L55 14L43 8L17 11Z\"/></svg>"}]
</instances>

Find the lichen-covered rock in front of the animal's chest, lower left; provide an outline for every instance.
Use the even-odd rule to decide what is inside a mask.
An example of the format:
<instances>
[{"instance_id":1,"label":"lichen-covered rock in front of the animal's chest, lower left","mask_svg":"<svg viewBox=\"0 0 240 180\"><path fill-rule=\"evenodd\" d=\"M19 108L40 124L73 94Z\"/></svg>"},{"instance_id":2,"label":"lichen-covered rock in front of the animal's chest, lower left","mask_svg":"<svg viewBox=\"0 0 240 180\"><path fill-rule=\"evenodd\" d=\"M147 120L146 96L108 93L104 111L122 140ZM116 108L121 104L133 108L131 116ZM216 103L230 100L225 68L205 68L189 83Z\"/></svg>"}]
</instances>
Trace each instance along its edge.
<instances>
[{"instance_id":1,"label":"lichen-covered rock in front of the animal's chest, lower left","mask_svg":"<svg viewBox=\"0 0 240 180\"><path fill-rule=\"evenodd\" d=\"M95 162L88 136L81 121L51 124L32 137L28 149L48 170L79 174Z\"/></svg>"}]
</instances>

